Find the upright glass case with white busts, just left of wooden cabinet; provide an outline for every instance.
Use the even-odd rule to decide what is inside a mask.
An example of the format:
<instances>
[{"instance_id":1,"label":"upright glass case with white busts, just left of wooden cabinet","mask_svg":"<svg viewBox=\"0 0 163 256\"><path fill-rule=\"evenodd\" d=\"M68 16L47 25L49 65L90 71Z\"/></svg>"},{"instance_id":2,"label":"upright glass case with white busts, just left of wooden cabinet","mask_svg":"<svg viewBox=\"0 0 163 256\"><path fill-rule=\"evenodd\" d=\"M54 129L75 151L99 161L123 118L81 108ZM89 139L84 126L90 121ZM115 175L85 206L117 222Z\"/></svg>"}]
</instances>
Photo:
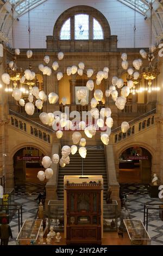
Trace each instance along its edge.
<instances>
[{"instance_id":1,"label":"upright glass case with white busts, just left of wooden cabinet","mask_svg":"<svg viewBox=\"0 0 163 256\"><path fill-rule=\"evenodd\" d=\"M51 225L54 231L64 231L64 201L49 200L48 202L48 230Z\"/></svg>"}]
</instances>

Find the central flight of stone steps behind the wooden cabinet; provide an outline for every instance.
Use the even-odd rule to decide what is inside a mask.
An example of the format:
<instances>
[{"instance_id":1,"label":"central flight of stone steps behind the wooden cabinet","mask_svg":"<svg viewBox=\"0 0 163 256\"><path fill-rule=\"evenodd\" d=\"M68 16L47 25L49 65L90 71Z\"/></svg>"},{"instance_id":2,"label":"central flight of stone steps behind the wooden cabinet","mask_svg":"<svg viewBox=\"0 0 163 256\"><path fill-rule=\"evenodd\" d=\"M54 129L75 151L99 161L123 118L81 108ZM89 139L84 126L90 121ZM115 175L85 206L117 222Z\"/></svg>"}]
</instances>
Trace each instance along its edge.
<instances>
[{"instance_id":1,"label":"central flight of stone steps behind the wooden cabinet","mask_svg":"<svg viewBox=\"0 0 163 256\"><path fill-rule=\"evenodd\" d=\"M58 200L64 200L64 175L103 175L104 179L104 198L108 190L108 177L106 173L106 163L104 149L87 148L85 159L76 153L70 155L70 164L66 164L64 168L59 167L58 174Z\"/></svg>"}]
</instances>

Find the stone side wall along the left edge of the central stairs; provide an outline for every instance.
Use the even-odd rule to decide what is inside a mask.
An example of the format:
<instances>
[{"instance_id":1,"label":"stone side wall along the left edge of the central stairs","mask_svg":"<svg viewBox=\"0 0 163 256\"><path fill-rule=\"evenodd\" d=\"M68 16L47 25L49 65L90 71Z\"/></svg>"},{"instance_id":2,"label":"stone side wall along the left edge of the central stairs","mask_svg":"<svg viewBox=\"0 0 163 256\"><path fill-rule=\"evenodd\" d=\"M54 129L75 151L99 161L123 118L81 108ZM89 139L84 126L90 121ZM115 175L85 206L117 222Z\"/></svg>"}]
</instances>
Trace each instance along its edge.
<instances>
[{"instance_id":1,"label":"stone side wall along the left edge of the central stairs","mask_svg":"<svg viewBox=\"0 0 163 256\"><path fill-rule=\"evenodd\" d=\"M53 154L59 154L60 151L60 144L53 144L52 145L52 154L51 159L53 157ZM46 200L45 200L45 211L47 214L48 211L48 202L49 200L57 200L57 181L58 181L58 169L59 169L59 163L55 164L52 163L51 168L53 169L53 176L46 184Z\"/></svg>"}]
</instances>

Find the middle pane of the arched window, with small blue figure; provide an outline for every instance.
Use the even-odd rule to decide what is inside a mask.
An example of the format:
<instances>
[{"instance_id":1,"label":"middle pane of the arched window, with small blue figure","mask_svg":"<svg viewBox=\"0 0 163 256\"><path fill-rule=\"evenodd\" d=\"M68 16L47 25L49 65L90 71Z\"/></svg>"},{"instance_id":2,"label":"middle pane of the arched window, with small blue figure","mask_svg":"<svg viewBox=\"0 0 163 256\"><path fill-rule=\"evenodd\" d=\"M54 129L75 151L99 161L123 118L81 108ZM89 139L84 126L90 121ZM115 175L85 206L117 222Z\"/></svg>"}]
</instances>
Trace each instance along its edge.
<instances>
[{"instance_id":1,"label":"middle pane of the arched window, with small blue figure","mask_svg":"<svg viewBox=\"0 0 163 256\"><path fill-rule=\"evenodd\" d=\"M74 36L76 40L89 39L89 15L77 14L74 16Z\"/></svg>"}]
</instances>

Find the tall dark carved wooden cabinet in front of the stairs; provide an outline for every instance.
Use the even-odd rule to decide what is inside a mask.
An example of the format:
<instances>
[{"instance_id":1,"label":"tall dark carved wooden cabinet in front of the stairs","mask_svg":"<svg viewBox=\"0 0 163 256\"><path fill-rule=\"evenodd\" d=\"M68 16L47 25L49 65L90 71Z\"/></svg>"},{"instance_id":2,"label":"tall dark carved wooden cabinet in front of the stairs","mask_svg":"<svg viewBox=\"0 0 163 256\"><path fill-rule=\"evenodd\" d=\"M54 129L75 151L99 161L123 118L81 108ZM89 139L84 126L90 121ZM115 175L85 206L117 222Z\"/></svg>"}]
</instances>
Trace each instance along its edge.
<instances>
[{"instance_id":1,"label":"tall dark carved wooden cabinet in front of the stairs","mask_svg":"<svg viewBox=\"0 0 163 256\"><path fill-rule=\"evenodd\" d=\"M66 190L66 243L101 245L101 181L69 183Z\"/></svg>"}]
</instances>

